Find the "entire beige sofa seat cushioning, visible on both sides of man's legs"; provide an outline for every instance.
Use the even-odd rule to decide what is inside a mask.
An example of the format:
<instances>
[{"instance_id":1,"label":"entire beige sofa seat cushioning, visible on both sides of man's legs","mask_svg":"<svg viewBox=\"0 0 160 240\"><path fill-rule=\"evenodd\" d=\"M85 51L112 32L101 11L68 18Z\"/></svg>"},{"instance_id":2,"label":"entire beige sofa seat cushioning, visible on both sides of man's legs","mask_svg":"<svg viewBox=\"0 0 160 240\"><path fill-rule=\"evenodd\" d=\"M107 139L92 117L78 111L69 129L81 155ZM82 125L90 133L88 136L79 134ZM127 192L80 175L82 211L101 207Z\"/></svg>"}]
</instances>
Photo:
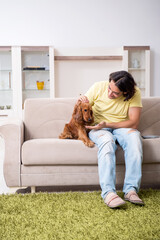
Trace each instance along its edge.
<instances>
[{"instance_id":1,"label":"entire beige sofa seat cushioning, visible on both sides of man's legs","mask_svg":"<svg viewBox=\"0 0 160 240\"><path fill-rule=\"evenodd\" d=\"M144 163L158 163L160 138L143 140ZM82 141L69 139L32 139L22 145L23 165L97 165L98 148L86 147ZM124 164L118 146L117 164Z\"/></svg>"}]
</instances>

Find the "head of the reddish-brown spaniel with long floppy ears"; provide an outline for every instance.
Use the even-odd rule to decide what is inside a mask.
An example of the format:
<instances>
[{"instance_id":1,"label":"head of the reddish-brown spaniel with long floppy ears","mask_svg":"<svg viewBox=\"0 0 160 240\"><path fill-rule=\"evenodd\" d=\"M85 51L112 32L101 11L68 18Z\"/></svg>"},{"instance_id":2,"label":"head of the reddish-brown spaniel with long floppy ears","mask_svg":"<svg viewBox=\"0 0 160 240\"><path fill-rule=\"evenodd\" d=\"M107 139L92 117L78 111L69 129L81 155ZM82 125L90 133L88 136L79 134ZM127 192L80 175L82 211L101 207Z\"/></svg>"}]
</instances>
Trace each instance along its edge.
<instances>
[{"instance_id":1,"label":"head of the reddish-brown spaniel with long floppy ears","mask_svg":"<svg viewBox=\"0 0 160 240\"><path fill-rule=\"evenodd\" d=\"M80 124L90 125L94 122L92 107L86 102L78 101L72 116Z\"/></svg>"}]
</instances>

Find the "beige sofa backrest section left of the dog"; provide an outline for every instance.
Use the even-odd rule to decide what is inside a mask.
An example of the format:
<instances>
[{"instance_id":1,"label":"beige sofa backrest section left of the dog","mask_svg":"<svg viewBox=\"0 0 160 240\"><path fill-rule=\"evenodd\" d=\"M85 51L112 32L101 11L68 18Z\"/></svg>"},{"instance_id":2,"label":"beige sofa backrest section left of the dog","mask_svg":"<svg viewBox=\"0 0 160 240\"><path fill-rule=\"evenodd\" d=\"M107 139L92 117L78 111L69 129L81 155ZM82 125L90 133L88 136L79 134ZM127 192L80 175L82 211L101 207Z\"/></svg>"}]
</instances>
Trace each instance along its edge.
<instances>
[{"instance_id":1,"label":"beige sofa backrest section left of the dog","mask_svg":"<svg viewBox=\"0 0 160 240\"><path fill-rule=\"evenodd\" d=\"M25 141L58 138L70 121L75 98L27 99L24 104Z\"/></svg>"}]
</instances>

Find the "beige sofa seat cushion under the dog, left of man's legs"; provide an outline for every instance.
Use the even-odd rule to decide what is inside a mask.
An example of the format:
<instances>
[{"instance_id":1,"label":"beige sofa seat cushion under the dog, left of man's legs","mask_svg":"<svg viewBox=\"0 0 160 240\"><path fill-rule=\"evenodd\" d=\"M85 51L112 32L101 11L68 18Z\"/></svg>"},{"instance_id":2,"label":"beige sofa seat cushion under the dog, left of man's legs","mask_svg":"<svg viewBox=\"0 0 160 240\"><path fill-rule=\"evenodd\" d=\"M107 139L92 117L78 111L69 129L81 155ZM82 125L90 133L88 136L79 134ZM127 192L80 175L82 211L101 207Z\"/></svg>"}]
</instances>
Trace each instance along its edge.
<instances>
[{"instance_id":1,"label":"beige sofa seat cushion under the dog, left of man's legs","mask_svg":"<svg viewBox=\"0 0 160 240\"><path fill-rule=\"evenodd\" d=\"M80 140L32 139L22 145L23 165L97 165L97 147Z\"/></svg>"}]
</instances>

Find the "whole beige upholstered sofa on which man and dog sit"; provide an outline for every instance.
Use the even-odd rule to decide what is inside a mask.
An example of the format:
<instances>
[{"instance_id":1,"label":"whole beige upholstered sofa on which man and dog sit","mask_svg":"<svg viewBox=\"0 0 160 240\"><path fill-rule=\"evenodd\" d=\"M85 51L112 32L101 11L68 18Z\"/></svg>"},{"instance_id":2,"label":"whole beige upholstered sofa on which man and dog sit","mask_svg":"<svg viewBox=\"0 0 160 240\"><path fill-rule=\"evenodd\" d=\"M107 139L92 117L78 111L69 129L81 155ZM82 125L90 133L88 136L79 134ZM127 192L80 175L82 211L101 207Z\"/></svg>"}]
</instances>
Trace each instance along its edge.
<instances>
[{"instance_id":1,"label":"whole beige upholstered sofa on which man and dog sit","mask_svg":"<svg viewBox=\"0 0 160 240\"><path fill-rule=\"evenodd\" d=\"M99 185L97 147L58 139L71 118L76 99L28 99L24 121L0 126L5 140L4 177L9 187ZM160 97L143 98L139 130L160 135ZM143 139L142 186L160 187L160 138ZM124 156L116 152L117 185L124 180Z\"/></svg>"}]
</instances>

